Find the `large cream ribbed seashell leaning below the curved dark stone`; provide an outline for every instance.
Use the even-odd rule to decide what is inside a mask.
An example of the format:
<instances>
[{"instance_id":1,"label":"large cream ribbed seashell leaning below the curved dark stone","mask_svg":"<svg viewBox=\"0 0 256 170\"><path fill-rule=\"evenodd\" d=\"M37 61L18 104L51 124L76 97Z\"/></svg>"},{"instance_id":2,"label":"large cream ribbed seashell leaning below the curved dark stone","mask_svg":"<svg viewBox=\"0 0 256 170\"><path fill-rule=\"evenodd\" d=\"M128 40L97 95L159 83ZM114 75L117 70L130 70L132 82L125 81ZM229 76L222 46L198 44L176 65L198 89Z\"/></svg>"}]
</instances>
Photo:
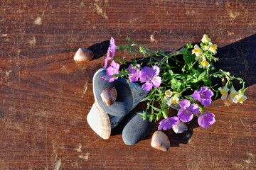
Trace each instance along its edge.
<instances>
[{"instance_id":1,"label":"large cream ribbed seashell leaning below the curved dark stone","mask_svg":"<svg viewBox=\"0 0 256 170\"><path fill-rule=\"evenodd\" d=\"M107 113L100 108L97 101L93 103L92 108L87 115L87 123L90 125L90 128L92 128L92 130L94 130L97 135L103 139L107 140L110 138L110 118Z\"/></svg>"}]
</instances>

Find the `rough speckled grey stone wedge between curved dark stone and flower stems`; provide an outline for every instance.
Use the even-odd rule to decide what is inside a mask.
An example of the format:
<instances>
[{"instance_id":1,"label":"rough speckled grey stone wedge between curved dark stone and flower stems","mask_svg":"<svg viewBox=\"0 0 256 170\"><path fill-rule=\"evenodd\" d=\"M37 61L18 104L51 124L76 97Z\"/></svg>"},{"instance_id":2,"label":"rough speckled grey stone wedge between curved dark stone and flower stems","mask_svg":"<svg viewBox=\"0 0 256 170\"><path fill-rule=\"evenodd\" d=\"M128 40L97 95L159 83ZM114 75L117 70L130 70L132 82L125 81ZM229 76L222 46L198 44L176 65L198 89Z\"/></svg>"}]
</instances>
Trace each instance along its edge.
<instances>
[{"instance_id":1,"label":"rough speckled grey stone wedge between curved dark stone and flower stems","mask_svg":"<svg viewBox=\"0 0 256 170\"><path fill-rule=\"evenodd\" d=\"M140 101L142 101L143 98L147 96L148 91L144 91L142 89L142 86L140 86L137 83L129 82L128 84L132 92L132 100L133 100L132 109L133 109L139 104Z\"/></svg>"}]
</instances>

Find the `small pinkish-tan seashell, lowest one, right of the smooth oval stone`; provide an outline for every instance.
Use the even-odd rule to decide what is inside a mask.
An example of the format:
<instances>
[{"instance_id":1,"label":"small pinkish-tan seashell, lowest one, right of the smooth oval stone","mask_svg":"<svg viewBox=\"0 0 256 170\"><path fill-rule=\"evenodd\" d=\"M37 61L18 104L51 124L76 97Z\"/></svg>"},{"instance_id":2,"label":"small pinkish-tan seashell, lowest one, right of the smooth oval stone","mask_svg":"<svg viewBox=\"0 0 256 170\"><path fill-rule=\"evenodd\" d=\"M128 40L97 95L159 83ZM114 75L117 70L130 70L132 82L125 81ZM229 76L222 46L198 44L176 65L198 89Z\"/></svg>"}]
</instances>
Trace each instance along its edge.
<instances>
[{"instance_id":1,"label":"small pinkish-tan seashell, lowest one, right of the smooth oval stone","mask_svg":"<svg viewBox=\"0 0 256 170\"><path fill-rule=\"evenodd\" d=\"M152 136L151 147L167 151L170 148L170 140L164 132L157 130Z\"/></svg>"}]
</instances>

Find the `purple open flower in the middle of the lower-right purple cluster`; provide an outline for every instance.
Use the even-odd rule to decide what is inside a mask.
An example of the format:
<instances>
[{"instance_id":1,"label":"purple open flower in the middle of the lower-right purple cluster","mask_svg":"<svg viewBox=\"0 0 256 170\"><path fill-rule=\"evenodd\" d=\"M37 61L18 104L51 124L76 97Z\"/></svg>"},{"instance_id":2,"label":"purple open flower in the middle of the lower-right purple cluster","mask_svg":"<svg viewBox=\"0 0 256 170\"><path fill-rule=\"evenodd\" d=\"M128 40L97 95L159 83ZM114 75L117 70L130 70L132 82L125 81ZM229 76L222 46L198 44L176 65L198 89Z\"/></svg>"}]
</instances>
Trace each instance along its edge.
<instances>
[{"instance_id":1,"label":"purple open flower in the middle of the lower-right purple cluster","mask_svg":"<svg viewBox=\"0 0 256 170\"><path fill-rule=\"evenodd\" d=\"M183 100L179 103L181 109L178 111L178 118L183 123L187 123L193 118L193 113L199 113L200 109L197 104L192 104L188 100Z\"/></svg>"}]
</instances>

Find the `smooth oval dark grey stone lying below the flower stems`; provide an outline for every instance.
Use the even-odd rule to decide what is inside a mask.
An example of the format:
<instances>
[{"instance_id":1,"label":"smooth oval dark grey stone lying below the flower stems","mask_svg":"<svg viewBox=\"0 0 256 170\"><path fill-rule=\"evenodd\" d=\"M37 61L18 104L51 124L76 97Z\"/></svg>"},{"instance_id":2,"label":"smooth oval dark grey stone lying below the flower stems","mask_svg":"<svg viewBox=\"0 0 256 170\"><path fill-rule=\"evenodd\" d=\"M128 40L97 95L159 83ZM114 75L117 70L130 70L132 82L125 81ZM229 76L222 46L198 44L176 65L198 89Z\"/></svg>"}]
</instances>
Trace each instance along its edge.
<instances>
[{"instance_id":1,"label":"smooth oval dark grey stone lying below the flower stems","mask_svg":"<svg viewBox=\"0 0 256 170\"><path fill-rule=\"evenodd\" d=\"M142 113L142 112L141 112ZM143 120L142 115L134 113L124 125L122 139L126 145L134 145L149 134L152 123L149 119Z\"/></svg>"}]
</instances>

